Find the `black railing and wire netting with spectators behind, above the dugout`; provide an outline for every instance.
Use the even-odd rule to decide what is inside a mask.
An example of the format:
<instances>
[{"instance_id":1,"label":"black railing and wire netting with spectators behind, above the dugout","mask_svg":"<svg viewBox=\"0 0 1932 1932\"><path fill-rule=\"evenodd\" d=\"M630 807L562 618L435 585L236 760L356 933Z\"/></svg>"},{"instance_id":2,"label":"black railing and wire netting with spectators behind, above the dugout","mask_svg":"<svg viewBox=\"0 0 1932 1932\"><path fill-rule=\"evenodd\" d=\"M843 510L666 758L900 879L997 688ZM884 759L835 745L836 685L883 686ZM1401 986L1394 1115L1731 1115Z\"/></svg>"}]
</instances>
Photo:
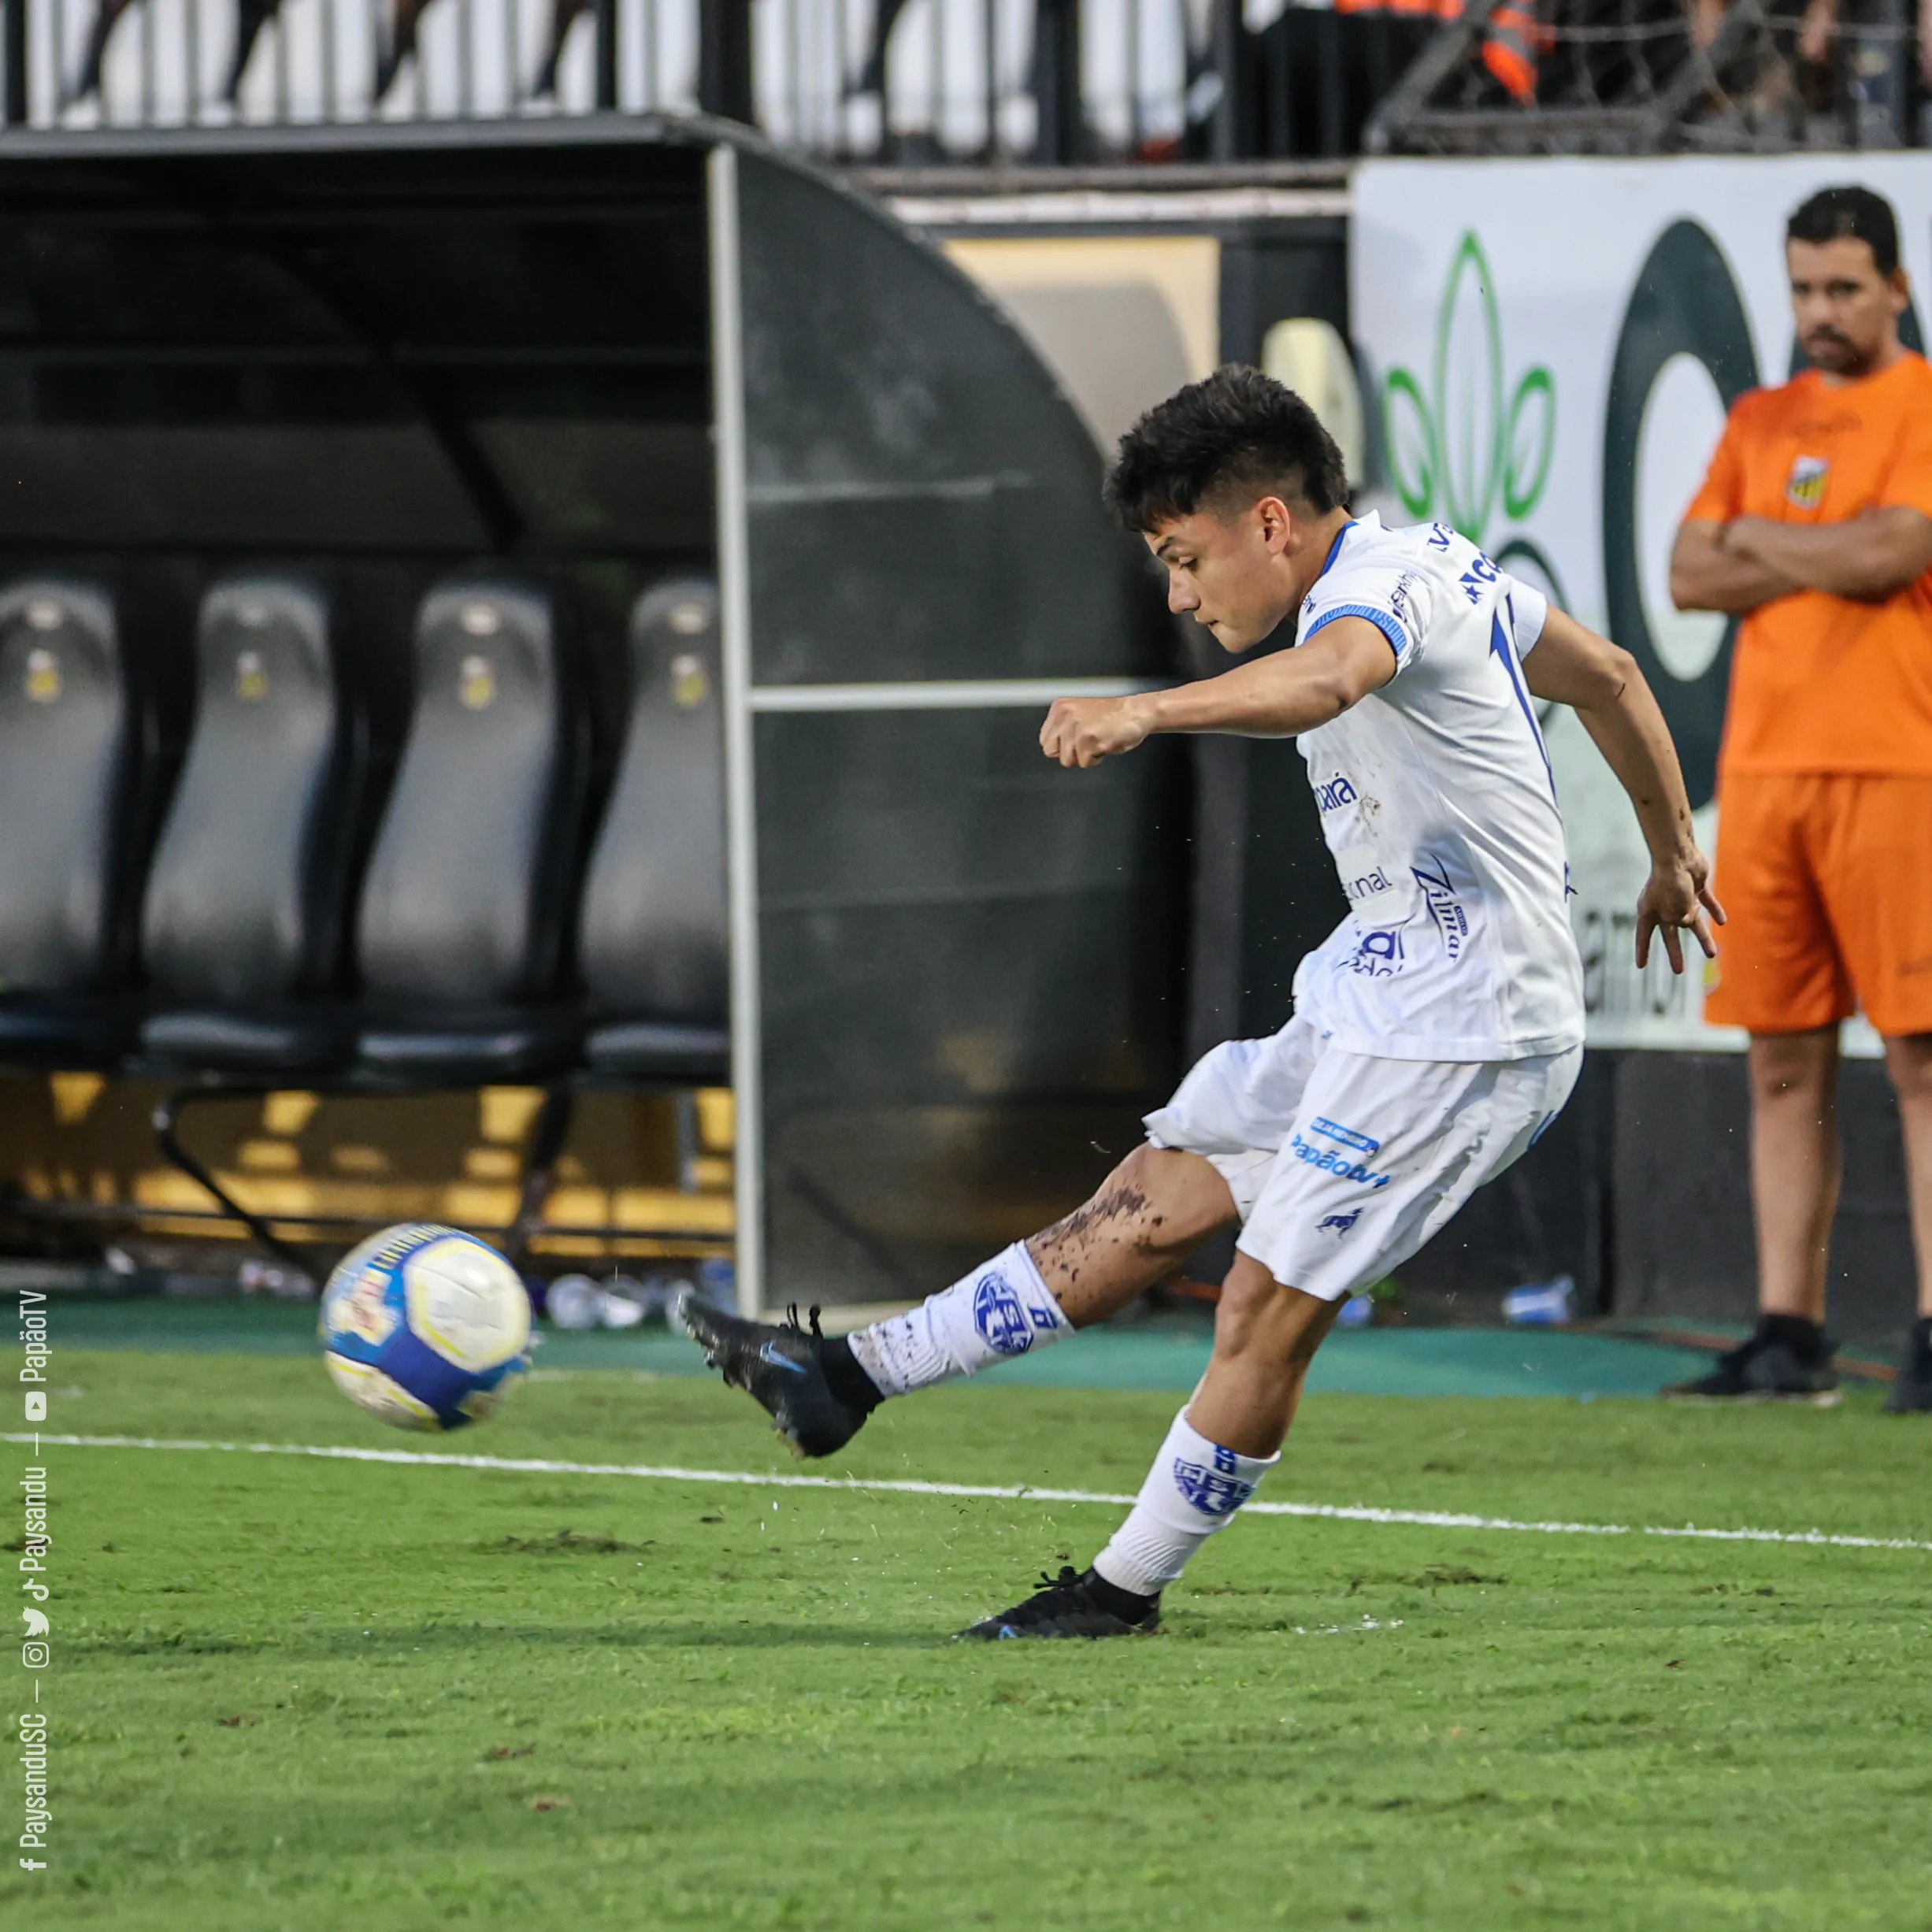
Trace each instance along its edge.
<instances>
[{"instance_id":1,"label":"black railing and wire netting with spectators behind, above the dugout","mask_svg":"<svg viewBox=\"0 0 1932 1932\"><path fill-rule=\"evenodd\" d=\"M1926 118L1903 0L0 0L0 21L14 126L701 110L902 172L1895 147Z\"/></svg>"}]
</instances>

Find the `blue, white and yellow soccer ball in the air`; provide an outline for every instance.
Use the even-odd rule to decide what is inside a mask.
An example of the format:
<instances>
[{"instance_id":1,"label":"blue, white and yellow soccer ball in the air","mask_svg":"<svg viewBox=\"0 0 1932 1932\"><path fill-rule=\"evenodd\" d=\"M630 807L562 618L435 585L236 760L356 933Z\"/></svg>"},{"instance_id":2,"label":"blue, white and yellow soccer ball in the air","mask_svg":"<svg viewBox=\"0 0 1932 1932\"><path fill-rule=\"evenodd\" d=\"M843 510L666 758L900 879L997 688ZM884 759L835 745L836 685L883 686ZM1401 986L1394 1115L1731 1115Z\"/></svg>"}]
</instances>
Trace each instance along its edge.
<instances>
[{"instance_id":1,"label":"blue, white and yellow soccer ball in the air","mask_svg":"<svg viewBox=\"0 0 1932 1932\"><path fill-rule=\"evenodd\" d=\"M323 1289L336 1387L400 1430L479 1422L529 1368L529 1294L489 1242L412 1221L352 1248Z\"/></svg>"}]
</instances>

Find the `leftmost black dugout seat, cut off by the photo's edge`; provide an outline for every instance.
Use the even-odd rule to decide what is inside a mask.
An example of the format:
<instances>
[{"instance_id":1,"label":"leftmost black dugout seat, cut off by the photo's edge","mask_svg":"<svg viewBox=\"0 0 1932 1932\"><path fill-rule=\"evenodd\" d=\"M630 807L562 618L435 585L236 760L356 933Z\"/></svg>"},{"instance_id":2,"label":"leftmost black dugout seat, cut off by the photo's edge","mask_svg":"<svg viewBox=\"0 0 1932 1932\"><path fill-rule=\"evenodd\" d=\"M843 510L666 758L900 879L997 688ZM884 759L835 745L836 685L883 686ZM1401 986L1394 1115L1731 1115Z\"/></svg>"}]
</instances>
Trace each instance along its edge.
<instances>
[{"instance_id":1,"label":"leftmost black dugout seat, cut off by the photo's edge","mask_svg":"<svg viewBox=\"0 0 1932 1932\"><path fill-rule=\"evenodd\" d=\"M133 1043L158 765L106 585L44 576L0 591L0 1063L102 1066Z\"/></svg>"}]
</instances>

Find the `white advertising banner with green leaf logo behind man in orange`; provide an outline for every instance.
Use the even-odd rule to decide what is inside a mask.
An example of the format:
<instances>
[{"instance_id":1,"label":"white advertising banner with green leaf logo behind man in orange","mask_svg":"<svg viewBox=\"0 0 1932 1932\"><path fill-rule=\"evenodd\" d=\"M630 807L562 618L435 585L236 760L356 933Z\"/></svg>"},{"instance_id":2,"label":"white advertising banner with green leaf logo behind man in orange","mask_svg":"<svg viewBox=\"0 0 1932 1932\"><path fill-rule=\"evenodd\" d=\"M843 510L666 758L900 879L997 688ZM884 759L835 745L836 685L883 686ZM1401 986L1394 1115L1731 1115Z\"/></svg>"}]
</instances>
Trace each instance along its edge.
<instances>
[{"instance_id":1,"label":"white advertising banner with green leaf logo behind man in orange","mask_svg":"<svg viewBox=\"0 0 1932 1932\"><path fill-rule=\"evenodd\" d=\"M1370 500L1439 520L1636 653L1677 738L1700 835L1731 626L1669 601L1669 551L1727 406L1793 367L1785 218L1859 182L1899 211L1918 342L1932 286L1932 156L1378 160L1354 176L1352 332L1379 419ZM1739 1047L1704 983L1633 964L1648 871L1577 719L1546 721L1571 837L1590 1041ZM1660 949L1662 952L1662 949ZM1851 1051L1876 1051L1855 1022Z\"/></svg>"}]
</instances>

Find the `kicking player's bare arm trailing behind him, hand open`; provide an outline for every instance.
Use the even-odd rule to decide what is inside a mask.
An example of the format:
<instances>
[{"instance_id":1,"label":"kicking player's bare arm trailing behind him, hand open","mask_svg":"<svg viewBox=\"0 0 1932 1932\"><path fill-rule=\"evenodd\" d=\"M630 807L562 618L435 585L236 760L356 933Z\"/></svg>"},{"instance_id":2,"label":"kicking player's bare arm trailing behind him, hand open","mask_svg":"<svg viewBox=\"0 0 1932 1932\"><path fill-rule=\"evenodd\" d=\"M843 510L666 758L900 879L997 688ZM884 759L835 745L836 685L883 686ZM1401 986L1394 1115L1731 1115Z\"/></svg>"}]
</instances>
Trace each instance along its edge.
<instances>
[{"instance_id":1,"label":"kicking player's bare arm trailing behind him, hand open","mask_svg":"<svg viewBox=\"0 0 1932 1932\"><path fill-rule=\"evenodd\" d=\"M1723 906L1712 896L1710 862L1690 831L1677 746L1636 659L1551 605L1522 674L1538 697L1569 705L1582 719L1644 829L1650 879L1636 900L1636 964L1650 964L1654 931L1663 935L1671 972L1685 970L1679 931L1689 931L1706 958L1714 956L1708 920L1721 925Z\"/></svg>"}]
</instances>

